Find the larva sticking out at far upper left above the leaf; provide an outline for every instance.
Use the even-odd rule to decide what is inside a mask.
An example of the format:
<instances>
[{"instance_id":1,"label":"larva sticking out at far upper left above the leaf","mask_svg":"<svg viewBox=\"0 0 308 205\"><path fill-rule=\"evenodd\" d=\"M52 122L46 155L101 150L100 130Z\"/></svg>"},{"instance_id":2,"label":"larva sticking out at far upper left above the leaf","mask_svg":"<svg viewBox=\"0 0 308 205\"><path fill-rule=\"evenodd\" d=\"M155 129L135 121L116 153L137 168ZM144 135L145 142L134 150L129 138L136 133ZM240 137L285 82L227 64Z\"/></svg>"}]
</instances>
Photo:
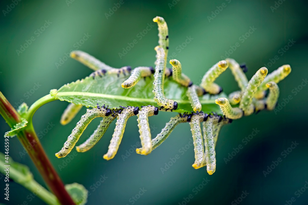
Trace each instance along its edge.
<instances>
[{"instance_id":1,"label":"larva sticking out at far upper left above the leaf","mask_svg":"<svg viewBox=\"0 0 308 205\"><path fill-rule=\"evenodd\" d=\"M91 56L88 53L85 53L80 50L74 50L71 52L71 58L79 61L83 65L91 68L92 70L110 70L113 69L111 66L104 64L100 60L96 59L95 57Z\"/></svg>"}]
</instances>

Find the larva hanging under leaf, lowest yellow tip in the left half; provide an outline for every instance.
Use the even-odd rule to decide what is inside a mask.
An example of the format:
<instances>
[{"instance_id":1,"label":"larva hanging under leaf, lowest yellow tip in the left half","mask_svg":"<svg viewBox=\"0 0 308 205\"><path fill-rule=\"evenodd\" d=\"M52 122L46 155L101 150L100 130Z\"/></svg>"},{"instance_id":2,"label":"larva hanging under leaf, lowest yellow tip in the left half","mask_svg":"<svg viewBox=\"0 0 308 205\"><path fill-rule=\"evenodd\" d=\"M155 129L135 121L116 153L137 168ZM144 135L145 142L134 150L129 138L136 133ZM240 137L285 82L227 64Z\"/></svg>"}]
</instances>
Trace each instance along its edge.
<instances>
[{"instance_id":1,"label":"larva hanging under leaf, lowest yellow tip in the left half","mask_svg":"<svg viewBox=\"0 0 308 205\"><path fill-rule=\"evenodd\" d=\"M110 144L108 146L108 152L104 154L103 158L105 160L111 160L115 154L118 152L125 126L129 117L138 114L138 107L128 107L125 108L118 116L115 123L115 131L112 135Z\"/></svg>"}]
</instances>

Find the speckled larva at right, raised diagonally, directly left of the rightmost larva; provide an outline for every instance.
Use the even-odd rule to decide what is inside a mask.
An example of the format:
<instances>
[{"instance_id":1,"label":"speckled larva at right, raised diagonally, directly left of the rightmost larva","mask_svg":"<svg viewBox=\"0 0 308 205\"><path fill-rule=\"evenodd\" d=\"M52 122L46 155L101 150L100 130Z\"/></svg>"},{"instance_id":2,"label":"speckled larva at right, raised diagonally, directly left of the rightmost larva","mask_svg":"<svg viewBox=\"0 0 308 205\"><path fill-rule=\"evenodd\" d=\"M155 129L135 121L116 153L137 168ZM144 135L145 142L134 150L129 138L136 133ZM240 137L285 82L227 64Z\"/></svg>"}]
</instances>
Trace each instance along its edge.
<instances>
[{"instance_id":1,"label":"speckled larva at right, raised diagonally, directly left of the rightmost larva","mask_svg":"<svg viewBox=\"0 0 308 205\"><path fill-rule=\"evenodd\" d=\"M243 91L239 107L244 111L245 116L249 116L253 113L254 111L254 106L252 103L253 97L257 91L257 88L267 75L267 72L268 72L267 68L265 67L260 68L257 71L257 73L254 74L253 77L250 79L246 89Z\"/></svg>"}]
</instances>

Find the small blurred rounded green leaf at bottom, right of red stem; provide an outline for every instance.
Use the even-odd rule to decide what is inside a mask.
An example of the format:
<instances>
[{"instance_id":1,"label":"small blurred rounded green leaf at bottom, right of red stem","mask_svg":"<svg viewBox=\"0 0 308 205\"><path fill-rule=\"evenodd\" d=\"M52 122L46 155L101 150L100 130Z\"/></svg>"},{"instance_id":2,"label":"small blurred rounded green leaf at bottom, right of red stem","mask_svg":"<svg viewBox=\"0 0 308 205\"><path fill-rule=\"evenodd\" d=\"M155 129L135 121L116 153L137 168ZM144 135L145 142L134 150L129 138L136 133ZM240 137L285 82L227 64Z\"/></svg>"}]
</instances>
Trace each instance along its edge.
<instances>
[{"instance_id":1,"label":"small blurred rounded green leaf at bottom, right of red stem","mask_svg":"<svg viewBox=\"0 0 308 205\"><path fill-rule=\"evenodd\" d=\"M87 203L88 190L79 183L66 184L65 189L77 205Z\"/></svg>"}]
</instances>

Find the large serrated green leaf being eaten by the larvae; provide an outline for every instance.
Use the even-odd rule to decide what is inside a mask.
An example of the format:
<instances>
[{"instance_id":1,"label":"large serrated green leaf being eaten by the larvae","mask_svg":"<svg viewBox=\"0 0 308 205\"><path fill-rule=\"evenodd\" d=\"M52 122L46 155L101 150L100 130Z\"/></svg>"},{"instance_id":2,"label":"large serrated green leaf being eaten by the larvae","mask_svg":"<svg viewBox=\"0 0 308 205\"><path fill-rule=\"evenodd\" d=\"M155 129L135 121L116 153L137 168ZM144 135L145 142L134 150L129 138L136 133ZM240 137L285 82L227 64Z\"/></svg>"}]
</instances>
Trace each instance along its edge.
<instances>
[{"instance_id":1,"label":"large serrated green leaf being eaten by the larvae","mask_svg":"<svg viewBox=\"0 0 308 205\"><path fill-rule=\"evenodd\" d=\"M82 104L86 107L96 107L99 105L109 105L109 107L121 106L142 106L154 105L157 106L152 93L153 77L147 77L145 80L140 80L137 85L132 88L125 89L121 87L121 83L128 76L117 77L116 74L108 74L103 77L86 77L66 85L63 85L59 90L51 90L50 94L55 99L68 101L75 104ZM172 79L165 78L164 94L167 98L173 99L178 103L176 112L190 112L193 108L186 97L187 88L179 85ZM224 93L217 96L204 95L200 98L203 112L217 112L221 114L221 110L215 99L218 97L226 97Z\"/></svg>"}]
</instances>

